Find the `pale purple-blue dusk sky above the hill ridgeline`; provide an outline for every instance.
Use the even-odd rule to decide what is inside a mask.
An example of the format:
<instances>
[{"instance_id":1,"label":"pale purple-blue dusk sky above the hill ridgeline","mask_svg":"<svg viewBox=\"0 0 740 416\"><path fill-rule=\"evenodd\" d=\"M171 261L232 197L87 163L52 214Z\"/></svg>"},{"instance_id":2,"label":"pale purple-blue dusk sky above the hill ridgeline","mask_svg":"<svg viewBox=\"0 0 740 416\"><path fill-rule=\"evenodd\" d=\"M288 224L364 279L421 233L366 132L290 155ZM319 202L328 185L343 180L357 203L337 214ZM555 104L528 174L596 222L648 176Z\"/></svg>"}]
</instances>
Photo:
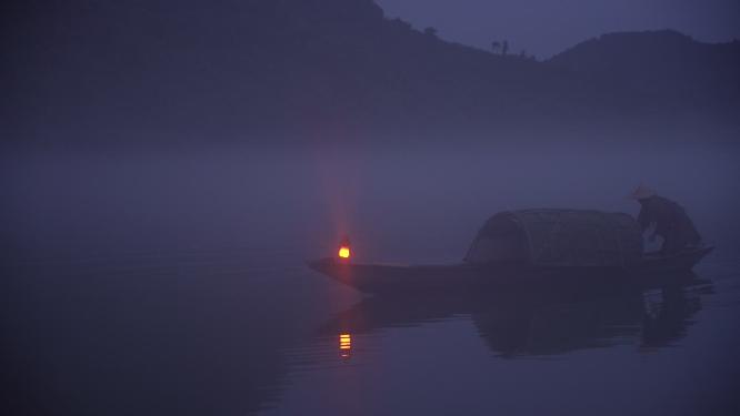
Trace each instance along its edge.
<instances>
[{"instance_id":1,"label":"pale purple-blue dusk sky above the hill ridgeline","mask_svg":"<svg viewBox=\"0 0 740 416\"><path fill-rule=\"evenodd\" d=\"M479 48L509 40L549 58L604 32L676 29L708 42L740 38L738 0L377 0L386 16Z\"/></svg>"}]
</instances>

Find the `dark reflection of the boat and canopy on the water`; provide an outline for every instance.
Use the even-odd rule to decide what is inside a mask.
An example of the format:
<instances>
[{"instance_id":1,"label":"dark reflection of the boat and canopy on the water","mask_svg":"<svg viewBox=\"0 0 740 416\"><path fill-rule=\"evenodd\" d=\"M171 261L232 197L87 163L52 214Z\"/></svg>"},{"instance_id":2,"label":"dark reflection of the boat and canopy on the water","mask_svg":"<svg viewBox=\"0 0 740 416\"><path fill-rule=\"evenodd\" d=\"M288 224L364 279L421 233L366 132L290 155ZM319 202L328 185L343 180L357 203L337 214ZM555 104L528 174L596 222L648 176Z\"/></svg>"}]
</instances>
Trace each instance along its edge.
<instances>
[{"instance_id":1,"label":"dark reflection of the boat and canopy on the water","mask_svg":"<svg viewBox=\"0 0 740 416\"><path fill-rule=\"evenodd\" d=\"M534 294L369 297L321 327L341 334L340 356L350 357L351 336L387 327L417 326L468 316L500 357L567 354L584 348L634 345L649 351L687 335L710 281L682 275L660 287L619 287ZM680 283L678 283L680 282Z\"/></svg>"}]
</instances>

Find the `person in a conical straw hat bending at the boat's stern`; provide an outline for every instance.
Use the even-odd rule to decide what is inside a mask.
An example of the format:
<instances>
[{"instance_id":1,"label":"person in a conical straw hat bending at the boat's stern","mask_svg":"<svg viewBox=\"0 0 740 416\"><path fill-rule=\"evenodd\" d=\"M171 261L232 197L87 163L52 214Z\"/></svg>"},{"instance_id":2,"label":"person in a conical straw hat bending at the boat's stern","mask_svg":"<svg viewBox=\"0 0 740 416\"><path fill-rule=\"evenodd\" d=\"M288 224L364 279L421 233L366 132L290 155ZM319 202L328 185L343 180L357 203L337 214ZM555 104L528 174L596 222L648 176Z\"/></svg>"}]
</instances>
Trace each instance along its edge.
<instances>
[{"instance_id":1,"label":"person in a conical straw hat bending at the boat's stern","mask_svg":"<svg viewBox=\"0 0 740 416\"><path fill-rule=\"evenodd\" d=\"M644 185L638 186L630 197L642 205L637 220L641 231L654 226L649 240L654 241L656 235L663 239L660 254L674 254L701 243L701 235L681 205L656 194L656 191Z\"/></svg>"}]
</instances>

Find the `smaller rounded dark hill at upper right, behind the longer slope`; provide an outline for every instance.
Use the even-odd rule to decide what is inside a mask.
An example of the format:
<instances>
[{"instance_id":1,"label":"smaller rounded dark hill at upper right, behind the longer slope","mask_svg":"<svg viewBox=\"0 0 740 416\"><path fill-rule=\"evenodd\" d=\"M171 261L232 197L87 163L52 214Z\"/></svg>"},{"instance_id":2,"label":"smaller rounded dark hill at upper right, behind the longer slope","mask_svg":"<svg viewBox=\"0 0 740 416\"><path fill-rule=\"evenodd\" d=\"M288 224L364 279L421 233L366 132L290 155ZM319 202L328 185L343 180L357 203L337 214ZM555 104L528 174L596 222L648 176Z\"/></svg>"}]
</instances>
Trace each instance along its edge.
<instances>
[{"instance_id":1,"label":"smaller rounded dark hill at upper right, behind the longer slope","mask_svg":"<svg viewBox=\"0 0 740 416\"><path fill-rule=\"evenodd\" d=\"M738 116L740 42L708 44L671 30L609 33L553 57L602 91L619 91L646 110Z\"/></svg>"}]
</instances>

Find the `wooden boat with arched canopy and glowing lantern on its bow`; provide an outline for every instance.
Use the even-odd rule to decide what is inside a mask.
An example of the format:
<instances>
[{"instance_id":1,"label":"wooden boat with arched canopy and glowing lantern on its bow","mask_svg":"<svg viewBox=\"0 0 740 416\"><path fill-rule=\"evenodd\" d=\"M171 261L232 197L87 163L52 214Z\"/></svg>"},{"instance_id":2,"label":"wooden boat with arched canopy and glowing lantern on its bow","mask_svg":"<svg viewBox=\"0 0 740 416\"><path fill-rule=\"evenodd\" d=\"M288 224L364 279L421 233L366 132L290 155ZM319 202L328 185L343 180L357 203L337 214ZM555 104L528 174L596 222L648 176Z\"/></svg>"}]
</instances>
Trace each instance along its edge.
<instances>
[{"instance_id":1,"label":"wooden boat with arched canopy and glowing lantern on its bow","mask_svg":"<svg viewBox=\"0 0 740 416\"><path fill-rule=\"evenodd\" d=\"M349 253L349 247L342 247ZM341 252L340 250L340 252ZM713 247L671 255L642 253L642 236L627 214L526 210L492 216L463 262L443 265L356 264L328 257L308 265L363 293L579 288L604 283L674 282Z\"/></svg>"}]
</instances>

